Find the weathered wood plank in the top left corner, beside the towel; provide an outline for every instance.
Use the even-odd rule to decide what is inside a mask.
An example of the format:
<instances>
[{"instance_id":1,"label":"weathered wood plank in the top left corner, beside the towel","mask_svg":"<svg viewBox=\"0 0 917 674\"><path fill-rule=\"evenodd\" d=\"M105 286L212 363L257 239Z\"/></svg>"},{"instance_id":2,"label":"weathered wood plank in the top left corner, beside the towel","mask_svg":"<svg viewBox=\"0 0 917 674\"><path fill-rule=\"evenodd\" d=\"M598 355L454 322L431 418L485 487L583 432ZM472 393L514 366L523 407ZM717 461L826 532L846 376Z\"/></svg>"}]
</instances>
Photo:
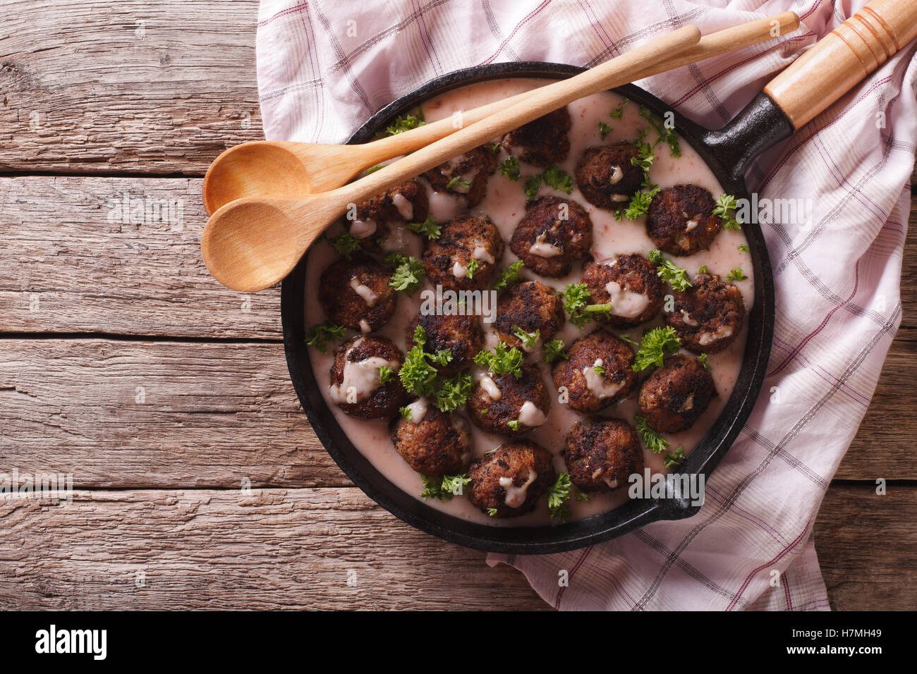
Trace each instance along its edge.
<instances>
[{"instance_id":1,"label":"weathered wood plank in the top left corner, beside the towel","mask_svg":"<svg viewBox=\"0 0 917 674\"><path fill-rule=\"evenodd\" d=\"M0 171L203 175L263 138L257 0L7 0Z\"/></svg>"}]
</instances>

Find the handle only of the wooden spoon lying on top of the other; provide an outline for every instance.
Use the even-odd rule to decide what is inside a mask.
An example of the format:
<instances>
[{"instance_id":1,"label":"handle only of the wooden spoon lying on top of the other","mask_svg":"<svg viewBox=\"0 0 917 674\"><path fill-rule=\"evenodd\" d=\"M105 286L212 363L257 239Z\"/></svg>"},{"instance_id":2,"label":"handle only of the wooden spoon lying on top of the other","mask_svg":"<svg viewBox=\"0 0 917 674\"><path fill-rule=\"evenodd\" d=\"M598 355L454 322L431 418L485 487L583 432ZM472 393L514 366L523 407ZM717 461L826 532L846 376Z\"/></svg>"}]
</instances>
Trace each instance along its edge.
<instances>
[{"instance_id":1,"label":"handle only of the wooden spoon lying on top of the other","mask_svg":"<svg viewBox=\"0 0 917 674\"><path fill-rule=\"evenodd\" d=\"M487 116L481 121L460 128L446 138L441 138L423 149L417 149L403 159L360 178L359 181L350 182L326 194L343 200L341 202L344 204L344 208L341 209L343 213L348 202L359 203L373 194L384 192L446 160L457 157L483 143L501 138L503 134L514 128L547 115L557 110L558 107L572 103L583 96L632 82L633 73L639 72L641 68L646 68L648 63L672 59L682 51L696 45L700 39L701 31L695 26L685 26L674 30L635 50L615 57L611 61L605 61L602 65L580 72L579 75L547 84L525 96L521 103L504 110L500 115ZM397 136L392 138L397 138Z\"/></svg>"}]
</instances>

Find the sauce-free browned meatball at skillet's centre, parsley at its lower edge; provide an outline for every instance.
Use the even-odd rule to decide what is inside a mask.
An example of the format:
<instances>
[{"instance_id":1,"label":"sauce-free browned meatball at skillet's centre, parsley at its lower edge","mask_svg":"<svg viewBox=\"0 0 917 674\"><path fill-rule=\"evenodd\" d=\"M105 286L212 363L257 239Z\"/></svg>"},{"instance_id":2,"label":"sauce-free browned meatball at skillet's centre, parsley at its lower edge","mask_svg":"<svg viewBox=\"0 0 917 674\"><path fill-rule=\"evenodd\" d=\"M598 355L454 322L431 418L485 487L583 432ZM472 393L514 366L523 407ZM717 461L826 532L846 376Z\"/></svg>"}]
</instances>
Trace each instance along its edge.
<instances>
[{"instance_id":1,"label":"sauce-free browned meatball at skillet's centre, parsley at its lower edge","mask_svg":"<svg viewBox=\"0 0 917 674\"><path fill-rule=\"evenodd\" d=\"M526 349L515 336L514 327L524 332L538 332L541 344L554 337L566 321L564 303L560 294L540 281L517 283L503 295L497 307L497 334L504 344Z\"/></svg>"}]
</instances>

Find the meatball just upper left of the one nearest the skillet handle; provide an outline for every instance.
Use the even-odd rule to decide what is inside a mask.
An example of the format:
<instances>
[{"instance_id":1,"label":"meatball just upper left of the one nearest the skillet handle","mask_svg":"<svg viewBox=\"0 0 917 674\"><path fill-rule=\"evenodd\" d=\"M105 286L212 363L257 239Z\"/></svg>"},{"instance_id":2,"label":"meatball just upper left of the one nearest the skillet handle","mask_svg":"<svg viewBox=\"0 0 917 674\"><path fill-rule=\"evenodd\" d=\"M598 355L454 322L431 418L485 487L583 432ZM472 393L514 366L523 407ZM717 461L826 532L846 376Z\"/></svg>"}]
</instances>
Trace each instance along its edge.
<instances>
[{"instance_id":1,"label":"meatball just upper left of the one nearest the skillet handle","mask_svg":"<svg viewBox=\"0 0 917 674\"><path fill-rule=\"evenodd\" d=\"M638 156L636 146L626 142L586 149L575 171L586 201L609 211L626 208L644 180L643 169L631 161Z\"/></svg>"}]
</instances>

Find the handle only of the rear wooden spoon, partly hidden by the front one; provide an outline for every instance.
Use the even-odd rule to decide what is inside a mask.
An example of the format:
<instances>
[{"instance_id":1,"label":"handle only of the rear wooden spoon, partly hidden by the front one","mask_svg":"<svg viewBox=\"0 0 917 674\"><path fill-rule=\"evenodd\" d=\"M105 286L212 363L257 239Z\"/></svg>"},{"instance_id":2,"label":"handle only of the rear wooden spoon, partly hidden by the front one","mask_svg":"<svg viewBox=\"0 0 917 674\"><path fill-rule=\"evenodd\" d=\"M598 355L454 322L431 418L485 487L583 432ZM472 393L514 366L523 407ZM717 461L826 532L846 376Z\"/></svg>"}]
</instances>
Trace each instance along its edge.
<instances>
[{"instance_id":1,"label":"handle only of the rear wooden spoon, partly hidden by the front one","mask_svg":"<svg viewBox=\"0 0 917 674\"><path fill-rule=\"evenodd\" d=\"M740 26L724 28L724 30L718 30L715 33L704 36L696 46L690 50L683 51L678 56L651 64L641 64L640 70L631 73L630 81L642 80L660 72L674 70L689 63L710 59L728 51L742 49L743 47L763 42L766 39L786 35L799 28L799 25L800 19L794 12L782 12L773 17L759 18ZM609 85L607 88L611 88L611 86ZM536 91L537 89L523 94L516 94L488 105L464 110L460 119L461 126L464 127L480 122L485 117L518 105ZM360 147L365 152L365 155L361 157L363 160L361 170L381 161L390 160L392 157L425 148L440 138L446 138L457 130L457 121L458 119L454 120L451 117L447 117L446 119L439 119L436 122L425 124L423 127L416 127L410 131L404 131L394 136L366 143Z\"/></svg>"}]
</instances>

